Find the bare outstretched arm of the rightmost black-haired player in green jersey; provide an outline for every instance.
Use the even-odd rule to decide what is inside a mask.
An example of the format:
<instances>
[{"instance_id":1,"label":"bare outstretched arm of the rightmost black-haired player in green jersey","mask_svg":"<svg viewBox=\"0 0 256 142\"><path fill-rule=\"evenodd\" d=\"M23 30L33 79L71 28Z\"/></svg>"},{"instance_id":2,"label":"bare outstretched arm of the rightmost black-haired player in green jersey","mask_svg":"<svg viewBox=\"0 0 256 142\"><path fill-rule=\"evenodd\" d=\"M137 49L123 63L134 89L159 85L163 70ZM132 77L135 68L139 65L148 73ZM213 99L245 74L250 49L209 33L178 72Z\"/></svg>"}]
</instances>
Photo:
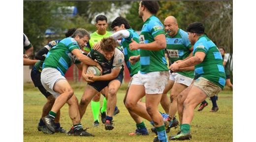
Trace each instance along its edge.
<instances>
[{"instance_id":1,"label":"bare outstretched arm of the rightmost black-haired player in green jersey","mask_svg":"<svg viewBox=\"0 0 256 142\"><path fill-rule=\"evenodd\" d=\"M180 68L185 68L185 67L191 67L191 66L194 66L194 65L197 65L199 63L202 63L203 60L204 60L204 57L205 57L205 52L202 52L202 51L198 51L194 54L193 57L191 57L190 59L184 61L184 62L181 62L181 63L173 63L171 66L170 66L170 69L172 71L177 71L179 70Z\"/></svg>"}]
</instances>

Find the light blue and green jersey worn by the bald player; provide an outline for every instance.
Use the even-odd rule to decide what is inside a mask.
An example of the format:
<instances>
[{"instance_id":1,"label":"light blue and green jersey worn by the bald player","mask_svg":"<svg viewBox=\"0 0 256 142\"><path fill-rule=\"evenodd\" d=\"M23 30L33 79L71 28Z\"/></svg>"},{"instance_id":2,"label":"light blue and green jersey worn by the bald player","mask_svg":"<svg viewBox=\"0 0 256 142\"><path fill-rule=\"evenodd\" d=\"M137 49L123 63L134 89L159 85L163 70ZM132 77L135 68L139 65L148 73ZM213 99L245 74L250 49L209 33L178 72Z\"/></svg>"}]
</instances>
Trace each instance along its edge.
<instances>
[{"instance_id":1,"label":"light blue and green jersey worn by the bald player","mask_svg":"<svg viewBox=\"0 0 256 142\"><path fill-rule=\"evenodd\" d=\"M177 34L173 37L170 37L168 34L166 34L165 39L166 49L169 54L168 58L171 63L174 63L178 60L183 60L190 55L190 48L192 45L188 39L188 33L184 30L179 28ZM180 71L177 73L190 78L194 78L194 71Z\"/></svg>"}]
</instances>

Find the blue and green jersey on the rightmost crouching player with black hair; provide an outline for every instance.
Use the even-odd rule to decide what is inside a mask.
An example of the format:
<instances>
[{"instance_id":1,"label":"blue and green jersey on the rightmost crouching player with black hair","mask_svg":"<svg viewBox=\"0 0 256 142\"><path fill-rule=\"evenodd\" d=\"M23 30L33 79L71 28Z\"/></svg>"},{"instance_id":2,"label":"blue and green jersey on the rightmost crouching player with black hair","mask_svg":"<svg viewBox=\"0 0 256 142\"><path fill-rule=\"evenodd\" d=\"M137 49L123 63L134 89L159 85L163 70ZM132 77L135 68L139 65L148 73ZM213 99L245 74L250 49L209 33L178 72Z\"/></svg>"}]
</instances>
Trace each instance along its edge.
<instances>
[{"instance_id":1,"label":"blue and green jersey on the rightmost crouching player with black hair","mask_svg":"<svg viewBox=\"0 0 256 142\"><path fill-rule=\"evenodd\" d=\"M205 57L202 63L195 65L195 76L204 77L223 89L226 75L219 49L206 35L202 35L194 44L193 56L196 52L204 52Z\"/></svg>"}]
</instances>

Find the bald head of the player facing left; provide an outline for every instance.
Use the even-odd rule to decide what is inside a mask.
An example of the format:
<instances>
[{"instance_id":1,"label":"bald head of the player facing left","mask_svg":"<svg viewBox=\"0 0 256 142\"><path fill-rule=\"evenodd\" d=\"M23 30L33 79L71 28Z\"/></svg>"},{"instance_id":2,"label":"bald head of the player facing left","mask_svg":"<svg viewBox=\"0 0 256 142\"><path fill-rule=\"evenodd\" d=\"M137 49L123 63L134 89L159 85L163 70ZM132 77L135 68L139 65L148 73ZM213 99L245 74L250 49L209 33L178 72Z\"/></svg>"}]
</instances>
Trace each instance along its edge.
<instances>
[{"instance_id":1,"label":"bald head of the player facing left","mask_svg":"<svg viewBox=\"0 0 256 142\"><path fill-rule=\"evenodd\" d=\"M179 27L174 16L166 17L163 24L165 32L168 33L169 36L173 37L177 34Z\"/></svg>"}]
</instances>

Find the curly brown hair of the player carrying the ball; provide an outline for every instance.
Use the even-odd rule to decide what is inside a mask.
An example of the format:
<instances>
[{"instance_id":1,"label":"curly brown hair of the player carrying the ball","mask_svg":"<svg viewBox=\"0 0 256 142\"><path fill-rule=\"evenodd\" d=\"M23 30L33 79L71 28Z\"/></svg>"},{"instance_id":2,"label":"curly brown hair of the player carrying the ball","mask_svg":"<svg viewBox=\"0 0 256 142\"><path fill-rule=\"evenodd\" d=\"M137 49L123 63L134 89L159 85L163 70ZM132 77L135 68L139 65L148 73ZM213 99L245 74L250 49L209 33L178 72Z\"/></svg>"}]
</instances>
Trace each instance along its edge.
<instances>
[{"instance_id":1,"label":"curly brown hair of the player carrying the ball","mask_svg":"<svg viewBox=\"0 0 256 142\"><path fill-rule=\"evenodd\" d=\"M118 47L118 42L113 37L103 38L100 42L100 49L103 51L111 52Z\"/></svg>"}]
</instances>

